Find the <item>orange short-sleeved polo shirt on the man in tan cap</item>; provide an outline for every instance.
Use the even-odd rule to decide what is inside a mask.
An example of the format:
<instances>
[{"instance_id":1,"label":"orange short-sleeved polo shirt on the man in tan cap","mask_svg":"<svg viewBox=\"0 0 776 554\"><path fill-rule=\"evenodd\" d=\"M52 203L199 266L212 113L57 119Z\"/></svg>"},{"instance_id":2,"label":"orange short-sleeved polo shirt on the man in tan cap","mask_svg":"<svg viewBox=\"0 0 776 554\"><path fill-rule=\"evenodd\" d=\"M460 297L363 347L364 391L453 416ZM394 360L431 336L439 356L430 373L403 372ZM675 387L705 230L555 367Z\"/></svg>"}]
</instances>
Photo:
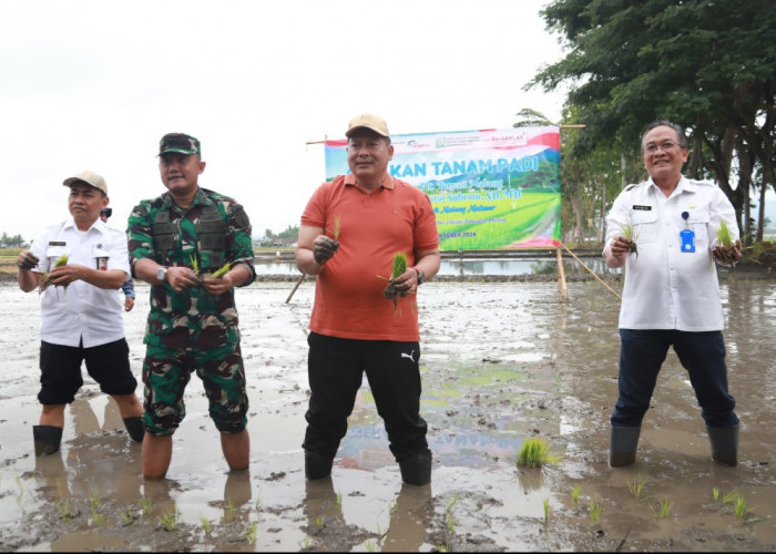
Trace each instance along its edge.
<instances>
[{"instance_id":1,"label":"orange short-sleeved polo shirt on the man in tan cap","mask_svg":"<svg viewBox=\"0 0 776 554\"><path fill-rule=\"evenodd\" d=\"M437 218L428 195L386 174L371 194L353 174L320 185L302 215L302 225L320 227L334 238L339 217L339 248L315 284L309 328L348 339L419 341L415 295L399 298L399 310L382 290L394 253L404 250L410 267L415 253L439 247Z\"/></svg>"}]
</instances>

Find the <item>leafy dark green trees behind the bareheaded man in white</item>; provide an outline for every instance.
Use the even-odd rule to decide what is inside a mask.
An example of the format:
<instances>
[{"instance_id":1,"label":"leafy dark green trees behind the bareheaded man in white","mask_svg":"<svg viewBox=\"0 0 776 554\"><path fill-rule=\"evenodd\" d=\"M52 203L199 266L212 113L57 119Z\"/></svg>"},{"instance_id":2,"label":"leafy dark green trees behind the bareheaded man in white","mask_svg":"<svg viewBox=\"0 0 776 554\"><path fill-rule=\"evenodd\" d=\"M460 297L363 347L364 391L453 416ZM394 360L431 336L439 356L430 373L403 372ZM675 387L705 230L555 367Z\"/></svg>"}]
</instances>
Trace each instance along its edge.
<instances>
[{"instance_id":1,"label":"leafy dark green trees behind the bareheaded man in white","mask_svg":"<svg viewBox=\"0 0 776 554\"><path fill-rule=\"evenodd\" d=\"M525 86L568 86L561 125L564 236L601 239L629 183L646 177L643 127L684 126L684 173L715 181L745 244L763 240L765 194L776 187L776 2L554 0L542 11L566 54ZM548 124L530 109L514 126ZM756 222L756 223L755 223Z\"/></svg>"}]
</instances>

